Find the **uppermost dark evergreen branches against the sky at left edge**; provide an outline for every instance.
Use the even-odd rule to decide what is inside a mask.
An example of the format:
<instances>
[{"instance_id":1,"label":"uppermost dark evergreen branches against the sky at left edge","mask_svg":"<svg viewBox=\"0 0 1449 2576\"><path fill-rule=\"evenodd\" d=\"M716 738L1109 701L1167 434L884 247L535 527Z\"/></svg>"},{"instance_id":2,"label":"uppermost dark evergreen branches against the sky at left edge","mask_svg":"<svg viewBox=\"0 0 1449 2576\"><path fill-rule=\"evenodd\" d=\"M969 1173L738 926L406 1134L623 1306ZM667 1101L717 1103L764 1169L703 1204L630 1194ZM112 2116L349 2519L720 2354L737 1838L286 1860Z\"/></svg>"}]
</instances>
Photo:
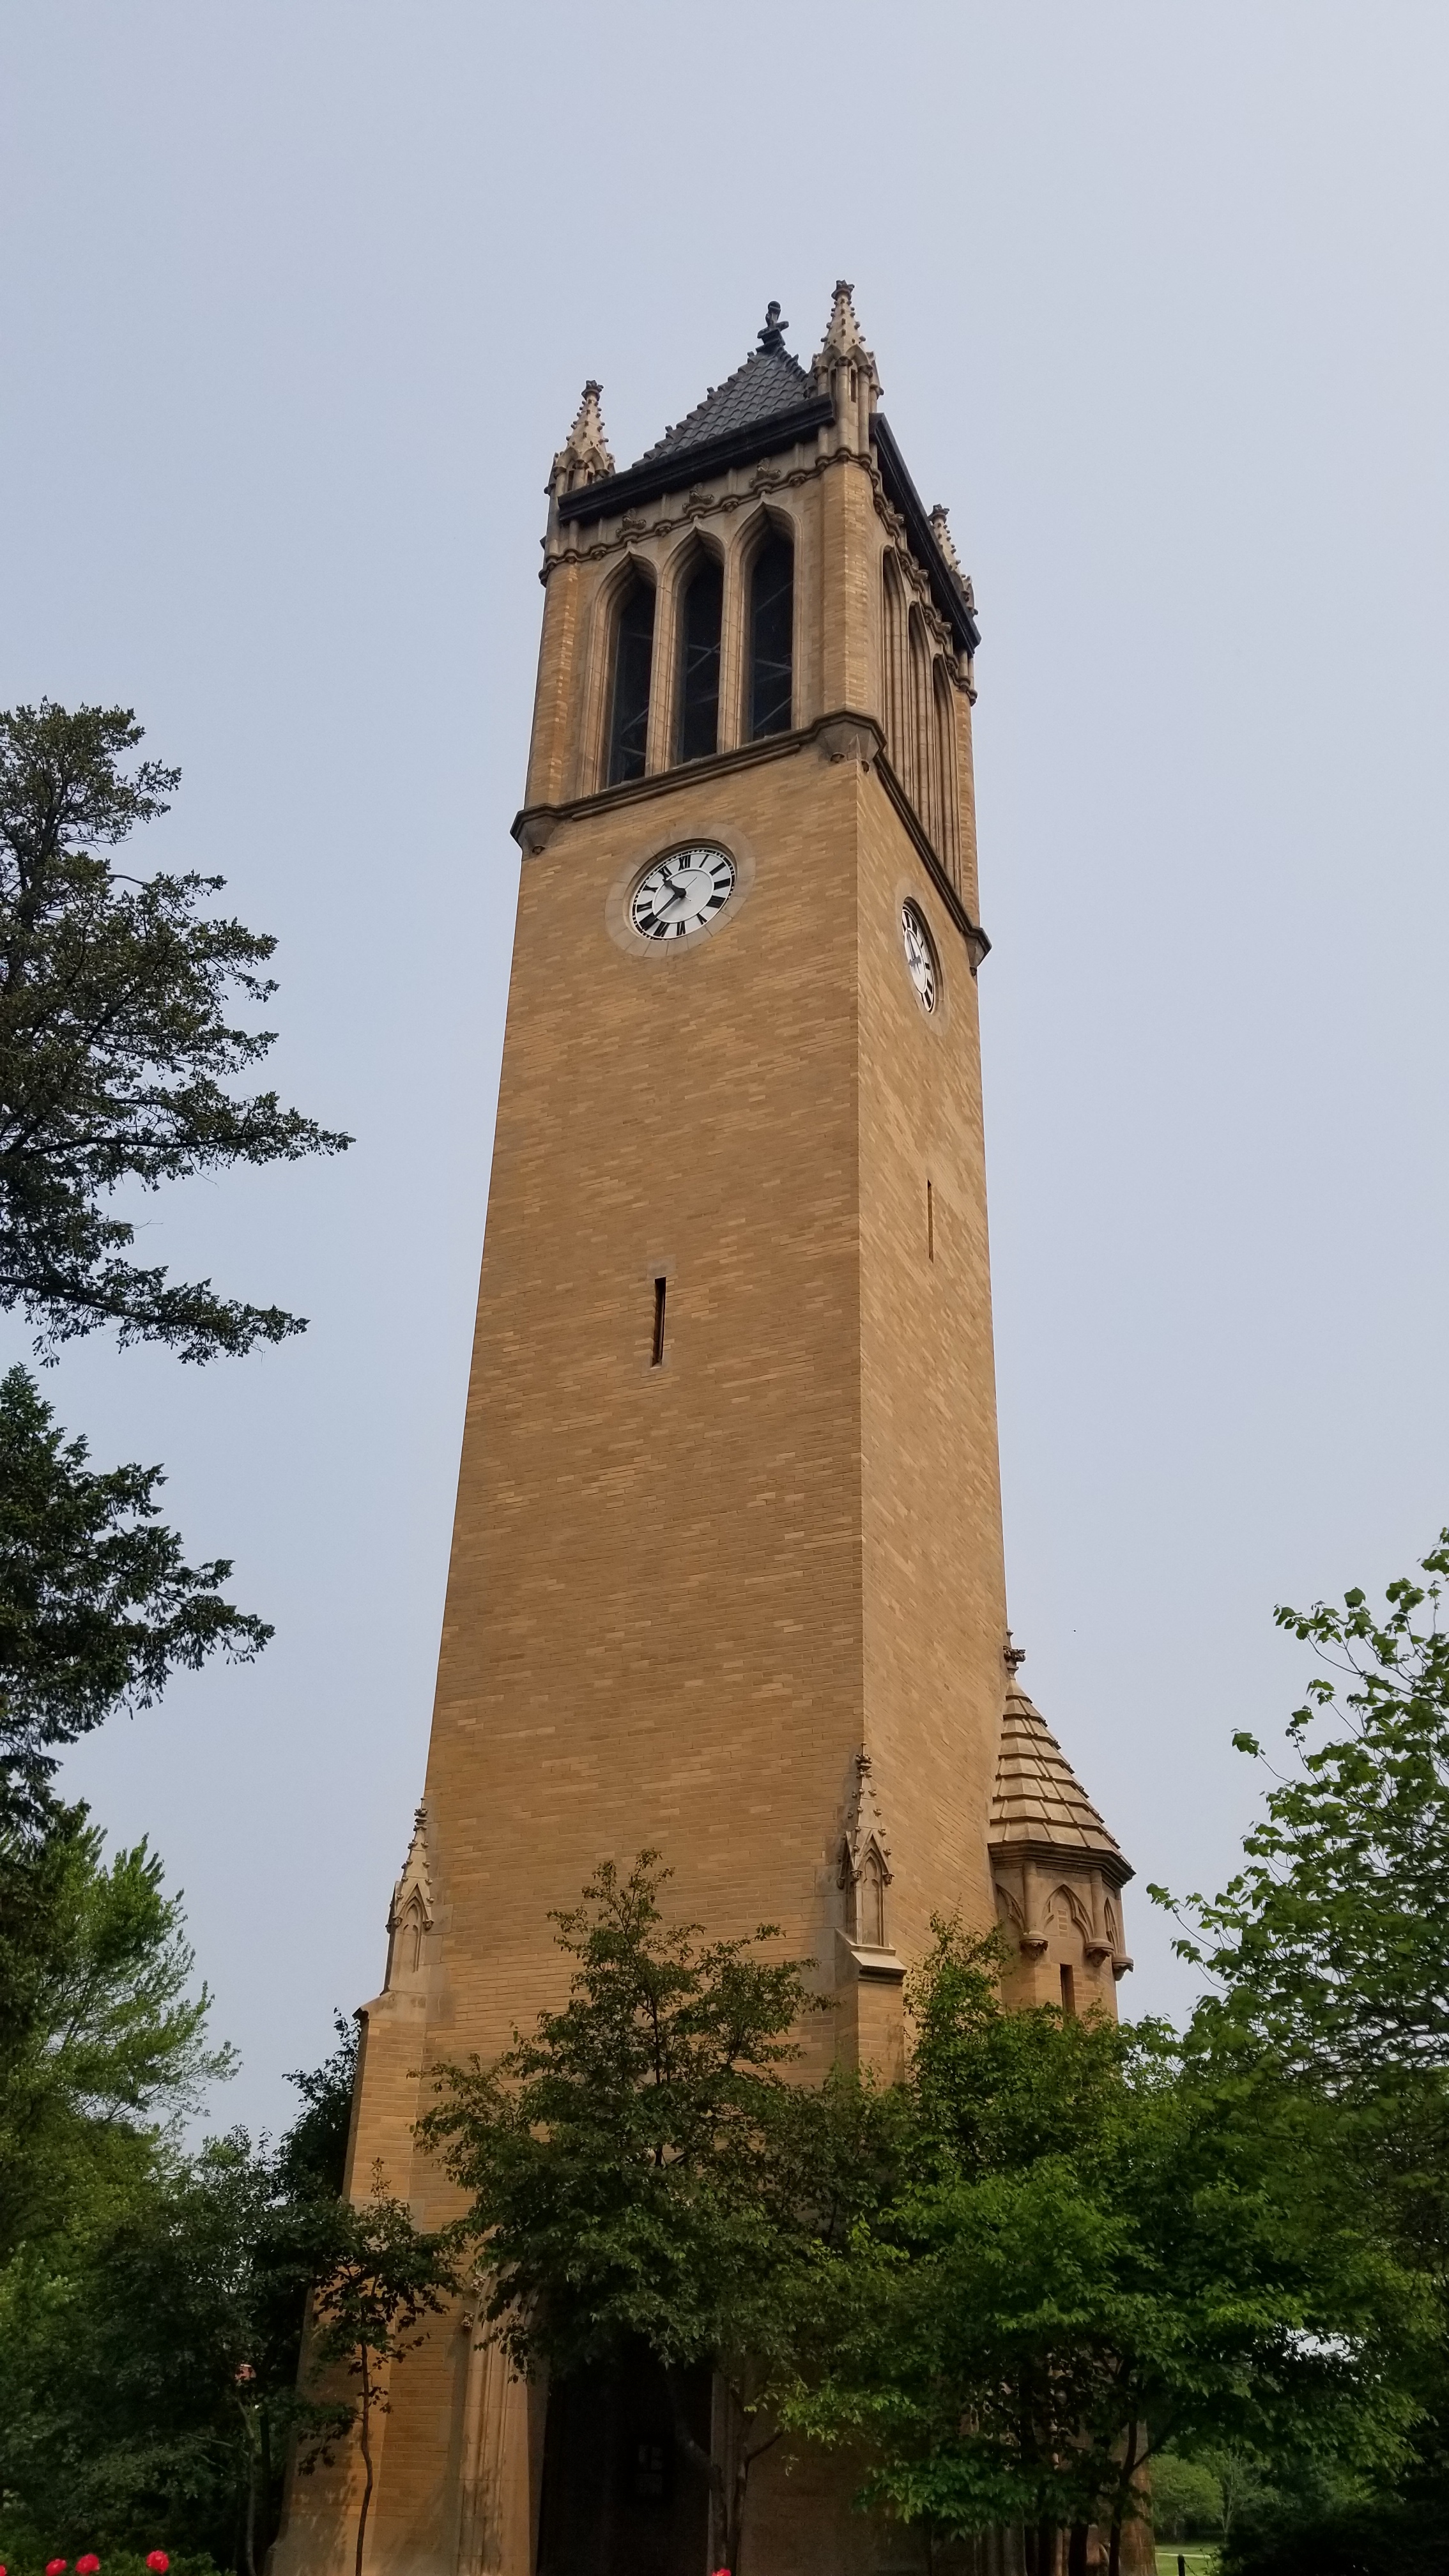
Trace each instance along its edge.
<instances>
[{"instance_id":1,"label":"uppermost dark evergreen branches against the sky at left edge","mask_svg":"<svg viewBox=\"0 0 1449 2576\"><path fill-rule=\"evenodd\" d=\"M106 1200L348 1139L276 1092L227 1090L273 1043L227 1007L271 999L258 969L276 940L199 909L219 876L111 866L106 850L165 814L180 778L157 760L126 773L139 742L119 706L0 714L0 1306L39 1327L41 1350L113 1324L121 1342L206 1360L304 1324L142 1270L134 1226Z\"/></svg>"}]
</instances>

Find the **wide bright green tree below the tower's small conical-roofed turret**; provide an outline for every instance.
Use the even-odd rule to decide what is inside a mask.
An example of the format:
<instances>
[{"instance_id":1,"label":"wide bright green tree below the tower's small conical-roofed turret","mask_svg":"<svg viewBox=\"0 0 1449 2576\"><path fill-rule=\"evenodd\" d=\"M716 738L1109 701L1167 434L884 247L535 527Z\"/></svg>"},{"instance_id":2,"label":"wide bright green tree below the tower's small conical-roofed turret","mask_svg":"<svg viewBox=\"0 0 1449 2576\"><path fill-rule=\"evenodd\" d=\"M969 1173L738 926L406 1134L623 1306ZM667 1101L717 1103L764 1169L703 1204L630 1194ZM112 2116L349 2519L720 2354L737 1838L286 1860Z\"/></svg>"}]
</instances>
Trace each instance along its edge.
<instances>
[{"instance_id":1,"label":"wide bright green tree below the tower's small conical-roofed turret","mask_svg":"<svg viewBox=\"0 0 1449 2576\"><path fill-rule=\"evenodd\" d=\"M866 2442L866 2499L964 2537L1109 2527L1165 2442L1392 2455L1423 2290L1171 2035L1006 2012L998 1942L938 1927L910 1989L902 2184L835 2267L792 2421Z\"/></svg>"}]
</instances>

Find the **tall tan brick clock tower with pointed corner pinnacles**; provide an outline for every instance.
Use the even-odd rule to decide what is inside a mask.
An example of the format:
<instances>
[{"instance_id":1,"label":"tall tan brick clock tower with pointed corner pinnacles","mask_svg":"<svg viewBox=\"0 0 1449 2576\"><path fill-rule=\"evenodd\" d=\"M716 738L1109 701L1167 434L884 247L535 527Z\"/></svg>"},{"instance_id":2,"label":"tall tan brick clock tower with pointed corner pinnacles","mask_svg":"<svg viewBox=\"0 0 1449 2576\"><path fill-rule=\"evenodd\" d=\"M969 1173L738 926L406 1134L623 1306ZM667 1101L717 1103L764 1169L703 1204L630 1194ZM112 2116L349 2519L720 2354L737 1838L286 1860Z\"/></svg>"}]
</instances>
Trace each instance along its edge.
<instances>
[{"instance_id":1,"label":"tall tan brick clock tower with pointed corner pinnacles","mask_svg":"<svg viewBox=\"0 0 1449 2576\"><path fill-rule=\"evenodd\" d=\"M1021 1710L1003 1757L972 587L851 289L810 368L784 330L627 471L590 384L549 479L438 1698L351 2151L423 2221L425 2069L562 1996L547 1914L606 1855L657 1847L714 1935L779 1922L817 2045L884 2066L931 1914L987 1924L993 1873L1024 1976L1124 1963L1127 1865L1029 1703L1057 1770ZM611 2553L549 2530L547 2396L469 2326L394 2375L369 2566L704 2576L647 2496ZM750 2576L918 2563L841 2463L766 2468ZM343 2473L297 2481L278 2571L353 2527Z\"/></svg>"}]
</instances>

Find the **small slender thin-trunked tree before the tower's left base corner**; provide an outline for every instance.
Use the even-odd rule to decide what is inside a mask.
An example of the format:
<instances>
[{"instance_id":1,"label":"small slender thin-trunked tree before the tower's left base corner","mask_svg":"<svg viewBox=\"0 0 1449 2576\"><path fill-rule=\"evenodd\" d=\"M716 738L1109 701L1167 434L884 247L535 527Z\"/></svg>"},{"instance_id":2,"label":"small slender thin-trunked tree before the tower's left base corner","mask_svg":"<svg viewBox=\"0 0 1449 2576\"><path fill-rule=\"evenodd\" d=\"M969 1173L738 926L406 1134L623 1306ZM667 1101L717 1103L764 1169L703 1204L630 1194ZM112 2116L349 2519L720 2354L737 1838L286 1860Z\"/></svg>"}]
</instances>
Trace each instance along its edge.
<instances>
[{"instance_id":1,"label":"small slender thin-trunked tree before the tower's left base corner","mask_svg":"<svg viewBox=\"0 0 1449 2576\"><path fill-rule=\"evenodd\" d=\"M438 2316L459 2287L456 2231L415 2228L407 2202L384 2190L379 2161L371 2197L338 2202L330 2264L312 2293L309 2334L312 2367L327 2372L327 2365L343 2365L358 2391L351 2409L364 2463L356 2576L364 2566L374 2486L371 2419L389 2411L392 2370L425 2339L423 2318ZM304 2458L315 2460L325 2447L327 2434L312 2442Z\"/></svg>"}]
</instances>

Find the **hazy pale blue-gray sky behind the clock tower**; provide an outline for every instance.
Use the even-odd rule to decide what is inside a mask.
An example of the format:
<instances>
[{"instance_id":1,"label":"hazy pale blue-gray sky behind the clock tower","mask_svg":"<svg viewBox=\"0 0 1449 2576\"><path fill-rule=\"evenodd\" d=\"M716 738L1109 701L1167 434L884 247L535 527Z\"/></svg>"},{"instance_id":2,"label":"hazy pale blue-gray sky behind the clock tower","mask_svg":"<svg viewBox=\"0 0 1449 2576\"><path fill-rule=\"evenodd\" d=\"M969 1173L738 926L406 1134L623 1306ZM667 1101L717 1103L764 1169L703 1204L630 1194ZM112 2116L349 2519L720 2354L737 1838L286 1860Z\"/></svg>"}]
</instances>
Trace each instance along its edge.
<instances>
[{"instance_id":1,"label":"hazy pale blue-gray sky behind the clock tower","mask_svg":"<svg viewBox=\"0 0 1449 2576\"><path fill-rule=\"evenodd\" d=\"M10 0L0 703L139 711L147 858L281 935L276 1077L358 1136L144 1211L302 1345L49 1378L278 1631L70 1767L186 1888L227 2120L382 1976L590 374L629 461L848 276L951 505L1011 1613L1140 1880L1232 1868L1271 1605L1449 1520L1446 106L1410 0Z\"/></svg>"}]
</instances>

